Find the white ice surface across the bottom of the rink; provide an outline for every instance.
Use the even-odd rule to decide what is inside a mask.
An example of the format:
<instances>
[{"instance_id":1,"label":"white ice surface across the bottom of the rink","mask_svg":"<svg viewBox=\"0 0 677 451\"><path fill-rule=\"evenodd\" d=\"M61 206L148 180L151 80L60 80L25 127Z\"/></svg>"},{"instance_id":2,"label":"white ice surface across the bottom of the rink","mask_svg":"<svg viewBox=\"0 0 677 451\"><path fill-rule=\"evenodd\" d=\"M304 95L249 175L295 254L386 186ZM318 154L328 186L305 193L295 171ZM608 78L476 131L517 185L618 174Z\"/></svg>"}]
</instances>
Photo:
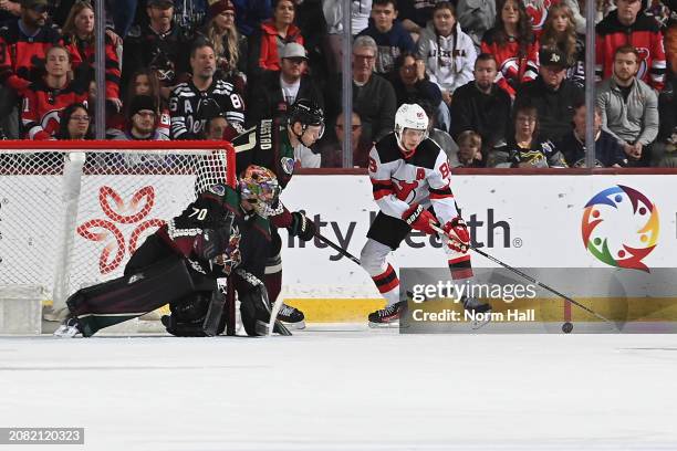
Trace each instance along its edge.
<instances>
[{"instance_id":1,"label":"white ice surface across the bottom of the rink","mask_svg":"<svg viewBox=\"0 0 677 451\"><path fill-rule=\"evenodd\" d=\"M677 450L677 335L0 337L0 450Z\"/></svg>"}]
</instances>

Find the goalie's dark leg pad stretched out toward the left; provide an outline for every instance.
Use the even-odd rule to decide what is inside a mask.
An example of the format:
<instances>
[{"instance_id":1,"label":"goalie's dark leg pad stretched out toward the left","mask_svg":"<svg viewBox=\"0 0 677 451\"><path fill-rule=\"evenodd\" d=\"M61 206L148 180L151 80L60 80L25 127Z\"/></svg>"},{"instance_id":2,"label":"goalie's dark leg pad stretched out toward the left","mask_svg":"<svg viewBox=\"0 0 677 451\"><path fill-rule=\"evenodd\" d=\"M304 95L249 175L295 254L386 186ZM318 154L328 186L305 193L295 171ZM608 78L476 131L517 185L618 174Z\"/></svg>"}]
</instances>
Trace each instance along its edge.
<instances>
[{"instance_id":1,"label":"goalie's dark leg pad stretched out toward the left","mask_svg":"<svg viewBox=\"0 0 677 451\"><path fill-rule=\"evenodd\" d=\"M195 291L184 259L170 256L143 271L79 290L66 305L85 337L135 318Z\"/></svg>"}]
</instances>

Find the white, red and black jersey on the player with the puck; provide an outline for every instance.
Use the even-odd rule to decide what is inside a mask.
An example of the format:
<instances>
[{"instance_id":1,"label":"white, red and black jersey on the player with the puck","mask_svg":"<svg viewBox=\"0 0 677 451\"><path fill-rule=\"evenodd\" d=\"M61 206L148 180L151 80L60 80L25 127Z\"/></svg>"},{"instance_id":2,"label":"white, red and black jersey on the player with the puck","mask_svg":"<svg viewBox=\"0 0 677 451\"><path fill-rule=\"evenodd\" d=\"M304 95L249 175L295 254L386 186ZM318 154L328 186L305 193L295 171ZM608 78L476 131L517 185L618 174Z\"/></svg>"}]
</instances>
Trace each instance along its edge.
<instances>
[{"instance_id":1,"label":"white, red and black jersey on the player with the puck","mask_svg":"<svg viewBox=\"0 0 677 451\"><path fill-rule=\"evenodd\" d=\"M442 224L458 216L447 155L433 139L424 139L414 155L404 158L390 133L372 148L368 169L374 200L383 213L402 219L413 203L420 203L433 206Z\"/></svg>"}]
</instances>

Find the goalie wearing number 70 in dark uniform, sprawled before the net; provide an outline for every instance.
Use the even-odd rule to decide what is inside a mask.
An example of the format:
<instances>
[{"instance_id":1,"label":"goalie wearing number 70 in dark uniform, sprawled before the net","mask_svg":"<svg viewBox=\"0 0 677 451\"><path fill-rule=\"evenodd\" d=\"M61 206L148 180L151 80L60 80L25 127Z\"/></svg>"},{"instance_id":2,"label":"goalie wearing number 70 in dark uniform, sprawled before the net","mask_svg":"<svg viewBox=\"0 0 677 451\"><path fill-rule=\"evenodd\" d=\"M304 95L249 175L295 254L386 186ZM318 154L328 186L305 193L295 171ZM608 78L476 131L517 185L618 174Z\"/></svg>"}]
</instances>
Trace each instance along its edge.
<instances>
[{"instance_id":1,"label":"goalie wearing number 70 in dark uniform, sprawled before the net","mask_svg":"<svg viewBox=\"0 0 677 451\"><path fill-rule=\"evenodd\" d=\"M271 308L261 280L270 243L267 216L279 191L271 171L251 166L237 190L215 185L200 193L148 237L123 277L70 296L71 317L55 334L92 336L169 304L163 324L170 334L218 335L226 327L226 285L232 283L247 334L267 335Z\"/></svg>"}]
</instances>

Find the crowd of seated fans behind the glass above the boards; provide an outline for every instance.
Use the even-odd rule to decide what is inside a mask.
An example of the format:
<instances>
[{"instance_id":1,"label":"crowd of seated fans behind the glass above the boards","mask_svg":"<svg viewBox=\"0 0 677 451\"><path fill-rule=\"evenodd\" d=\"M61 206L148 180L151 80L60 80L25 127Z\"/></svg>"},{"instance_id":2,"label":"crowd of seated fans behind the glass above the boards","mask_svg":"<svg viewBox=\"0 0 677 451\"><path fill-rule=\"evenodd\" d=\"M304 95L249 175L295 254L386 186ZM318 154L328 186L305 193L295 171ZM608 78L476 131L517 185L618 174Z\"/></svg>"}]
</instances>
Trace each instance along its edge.
<instances>
[{"instance_id":1,"label":"crowd of seated fans behind the glass above the boards","mask_svg":"<svg viewBox=\"0 0 677 451\"><path fill-rule=\"evenodd\" d=\"M366 167L397 107L419 103L455 167L575 167L583 88L595 83L596 164L677 167L676 0L353 0L350 11L342 0L93 1L106 10L104 93L93 3L0 0L4 137L91 139L91 105L105 96L110 139L229 139L309 98L329 126L299 164L341 167L350 126ZM352 67L341 65L343 14Z\"/></svg>"}]
</instances>

